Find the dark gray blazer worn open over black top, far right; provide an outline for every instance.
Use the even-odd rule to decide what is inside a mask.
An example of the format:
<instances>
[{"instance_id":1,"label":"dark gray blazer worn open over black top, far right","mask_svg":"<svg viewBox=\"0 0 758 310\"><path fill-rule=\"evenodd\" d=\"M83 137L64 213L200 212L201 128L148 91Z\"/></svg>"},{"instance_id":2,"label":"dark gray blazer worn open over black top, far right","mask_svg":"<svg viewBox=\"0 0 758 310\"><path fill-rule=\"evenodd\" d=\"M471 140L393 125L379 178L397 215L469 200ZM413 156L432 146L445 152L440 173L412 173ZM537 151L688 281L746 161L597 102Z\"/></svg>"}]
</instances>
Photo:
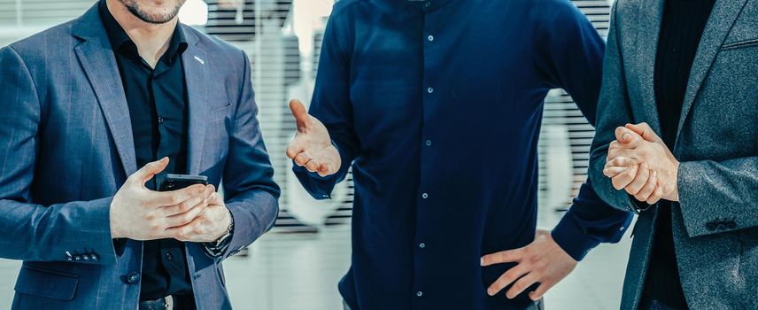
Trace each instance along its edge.
<instances>
[{"instance_id":1,"label":"dark gray blazer worn open over black top, far right","mask_svg":"<svg viewBox=\"0 0 758 310\"><path fill-rule=\"evenodd\" d=\"M618 0L612 11L592 143L599 196L634 210L602 174L614 129L647 122L660 136L653 75L663 0ZM681 162L673 231L692 309L758 308L758 1L716 0L686 89L674 155ZM633 229L622 309L637 309L657 208Z\"/></svg>"}]
</instances>

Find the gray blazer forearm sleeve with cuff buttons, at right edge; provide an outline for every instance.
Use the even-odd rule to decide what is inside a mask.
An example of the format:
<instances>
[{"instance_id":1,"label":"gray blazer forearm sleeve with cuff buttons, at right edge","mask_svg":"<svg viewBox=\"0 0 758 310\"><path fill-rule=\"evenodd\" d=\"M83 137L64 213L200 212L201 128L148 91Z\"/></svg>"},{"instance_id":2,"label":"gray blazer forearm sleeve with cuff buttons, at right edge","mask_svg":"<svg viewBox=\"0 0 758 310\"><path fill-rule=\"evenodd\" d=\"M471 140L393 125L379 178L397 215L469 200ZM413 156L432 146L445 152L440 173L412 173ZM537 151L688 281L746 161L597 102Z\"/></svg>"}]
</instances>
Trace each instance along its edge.
<instances>
[{"instance_id":1,"label":"gray blazer forearm sleeve with cuff buttons, at right edge","mask_svg":"<svg viewBox=\"0 0 758 310\"><path fill-rule=\"evenodd\" d=\"M758 227L758 156L681 162L677 182L689 236Z\"/></svg>"}]
</instances>

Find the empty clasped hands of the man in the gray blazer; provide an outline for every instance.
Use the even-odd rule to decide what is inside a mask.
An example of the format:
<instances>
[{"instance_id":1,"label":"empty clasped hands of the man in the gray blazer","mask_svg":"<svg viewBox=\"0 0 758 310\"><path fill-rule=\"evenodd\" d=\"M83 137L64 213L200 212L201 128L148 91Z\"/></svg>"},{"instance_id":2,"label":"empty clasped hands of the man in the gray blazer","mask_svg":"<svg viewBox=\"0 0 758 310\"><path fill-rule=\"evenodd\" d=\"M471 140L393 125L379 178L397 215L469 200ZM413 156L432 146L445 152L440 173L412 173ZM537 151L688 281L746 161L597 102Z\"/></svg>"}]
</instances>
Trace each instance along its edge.
<instances>
[{"instance_id":1,"label":"empty clasped hands of the man in the gray blazer","mask_svg":"<svg viewBox=\"0 0 758 310\"><path fill-rule=\"evenodd\" d=\"M641 202L678 201L679 162L646 123L616 128L603 174Z\"/></svg>"}]
</instances>

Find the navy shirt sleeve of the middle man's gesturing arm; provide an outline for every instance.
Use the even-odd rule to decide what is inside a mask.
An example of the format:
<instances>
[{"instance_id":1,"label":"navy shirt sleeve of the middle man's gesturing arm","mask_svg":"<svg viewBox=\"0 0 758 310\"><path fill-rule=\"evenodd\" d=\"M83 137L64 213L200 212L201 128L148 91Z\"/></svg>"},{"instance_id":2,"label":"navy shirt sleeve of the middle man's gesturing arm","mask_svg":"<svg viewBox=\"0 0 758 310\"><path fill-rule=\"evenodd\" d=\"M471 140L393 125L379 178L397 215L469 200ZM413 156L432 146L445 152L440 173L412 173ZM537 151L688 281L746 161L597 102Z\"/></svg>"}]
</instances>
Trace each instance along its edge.
<instances>
[{"instance_id":1,"label":"navy shirt sleeve of the middle man's gesturing arm","mask_svg":"<svg viewBox=\"0 0 758 310\"><path fill-rule=\"evenodd\" d=\"M350 58L344 42L348 40L344 14L335 12L329 23L321 45L318 76L313 90L313 100L309 112L329 130L332 143L339 151L342 166L336 174L321 177L310 173L304 167L295 165L292 171L308 193L316 199L330 198L336 183L344 180L352 160L360 150L360 143L354 132L352 104L350 101Z\"/></svg>"}]
</instances>

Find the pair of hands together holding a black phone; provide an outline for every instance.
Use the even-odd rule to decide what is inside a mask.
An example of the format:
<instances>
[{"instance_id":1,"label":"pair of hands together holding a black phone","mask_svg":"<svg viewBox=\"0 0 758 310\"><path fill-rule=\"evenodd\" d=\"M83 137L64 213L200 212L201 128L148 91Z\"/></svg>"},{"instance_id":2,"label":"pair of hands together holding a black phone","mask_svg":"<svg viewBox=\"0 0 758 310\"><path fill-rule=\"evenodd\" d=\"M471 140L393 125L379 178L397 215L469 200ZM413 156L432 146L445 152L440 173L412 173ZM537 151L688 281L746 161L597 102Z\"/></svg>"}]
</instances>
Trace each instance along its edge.
<instances>
[{"instance_id":1,"label":"pair of hands together holding a black phone","mask_svg":"<svg viewBox=\"0 0 758 310\"><path fill-rule=\"evenodd\" d=\"M151 162L121 186L111 203L112 238L213 242L226 234L231 215L213 185L166 192L145 188L167 164L166 158Z\"/></svg>"}]
</instances>

